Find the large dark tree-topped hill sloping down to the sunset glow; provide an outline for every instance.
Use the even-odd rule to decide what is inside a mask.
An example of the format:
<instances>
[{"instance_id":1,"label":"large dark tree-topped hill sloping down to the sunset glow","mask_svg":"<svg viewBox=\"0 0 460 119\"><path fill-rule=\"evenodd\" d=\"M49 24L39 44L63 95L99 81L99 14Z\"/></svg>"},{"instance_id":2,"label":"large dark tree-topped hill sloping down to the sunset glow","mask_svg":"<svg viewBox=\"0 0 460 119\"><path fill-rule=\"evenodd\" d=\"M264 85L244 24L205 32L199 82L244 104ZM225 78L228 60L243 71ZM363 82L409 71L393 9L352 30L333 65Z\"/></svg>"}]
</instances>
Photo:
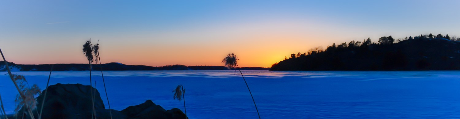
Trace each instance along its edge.
<instances>
[{"instance_id":1,"label":"large dark tree-topped hill sloping down to the sunset glow","mask_svg":"<svg viewBox=\"0 0 460 119\"><path fill-rule=\"evenodd\" d=\"M409 37L398 43L382 37L291 54L270 70L459 70L460 42L439 34ZM460 38L453 38L459 40Z\"/></svg>"}]
</instances>

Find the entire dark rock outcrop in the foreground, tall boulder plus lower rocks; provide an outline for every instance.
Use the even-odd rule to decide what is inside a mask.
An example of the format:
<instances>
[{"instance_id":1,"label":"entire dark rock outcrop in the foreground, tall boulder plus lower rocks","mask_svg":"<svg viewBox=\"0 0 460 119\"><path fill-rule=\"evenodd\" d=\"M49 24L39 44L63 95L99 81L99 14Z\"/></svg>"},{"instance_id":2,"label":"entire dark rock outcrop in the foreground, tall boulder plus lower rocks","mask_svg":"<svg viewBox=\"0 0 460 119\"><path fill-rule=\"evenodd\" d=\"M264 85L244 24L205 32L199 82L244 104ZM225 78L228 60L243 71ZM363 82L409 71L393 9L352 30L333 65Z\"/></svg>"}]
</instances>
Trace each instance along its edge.
<instances>
[{"instance_id":1,"label":"entire dark rock outcrop in the foreground, tall boulder plus lower rocks","mask_svg":"<svg viewBox=\"0 0 460 119\"><path fill-rule=\"evenodd\" d=\"M129 106L122 111L105 109L98 90L81 84L58 83L49 86L46 90L48 92L43 105L42 119L91 119L91 90L96 96L94 109L97 119L110 119L109 111L111 111L113 119L188 119L180 109L165 110L151 100L136 106ZM37 97L38 112L40 112L42 100L43 95ZM38 117L38 114L35 114L36 111L33 112L35 117ZM22 112L18 114L22 114ZM22 118L22 115L18 115L17 118ZM24 118L29 118L29 116L25 115Z\"/></svg>"}]
</instances>

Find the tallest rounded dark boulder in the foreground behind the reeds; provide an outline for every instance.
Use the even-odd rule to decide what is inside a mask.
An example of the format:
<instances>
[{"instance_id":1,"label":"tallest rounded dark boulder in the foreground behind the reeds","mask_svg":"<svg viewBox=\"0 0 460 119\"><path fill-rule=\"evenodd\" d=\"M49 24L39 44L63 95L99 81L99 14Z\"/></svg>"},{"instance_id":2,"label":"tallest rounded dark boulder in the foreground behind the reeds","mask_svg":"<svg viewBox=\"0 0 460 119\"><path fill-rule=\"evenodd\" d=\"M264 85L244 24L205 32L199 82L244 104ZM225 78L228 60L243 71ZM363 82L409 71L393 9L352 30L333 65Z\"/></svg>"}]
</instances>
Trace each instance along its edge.
<instances>
[{"instance_id":1,"label":"tallest rounded dark boulder in the foreground behind the reeds","mask_svg":"<svg viewBox=\"0 0 460 119\"><path fill-rule=\"evenodd\" d=\"M98 90L81 84L56 84L49 86L43 107L44 119L89 119L92 115L91 92L96 95L94 108L105 109ZM46 91L45 90L45 91ZM43 92L45 92L43 91ZM43 95L37 97L37 109L41 108Z\"/></svg>"}]
</instances>

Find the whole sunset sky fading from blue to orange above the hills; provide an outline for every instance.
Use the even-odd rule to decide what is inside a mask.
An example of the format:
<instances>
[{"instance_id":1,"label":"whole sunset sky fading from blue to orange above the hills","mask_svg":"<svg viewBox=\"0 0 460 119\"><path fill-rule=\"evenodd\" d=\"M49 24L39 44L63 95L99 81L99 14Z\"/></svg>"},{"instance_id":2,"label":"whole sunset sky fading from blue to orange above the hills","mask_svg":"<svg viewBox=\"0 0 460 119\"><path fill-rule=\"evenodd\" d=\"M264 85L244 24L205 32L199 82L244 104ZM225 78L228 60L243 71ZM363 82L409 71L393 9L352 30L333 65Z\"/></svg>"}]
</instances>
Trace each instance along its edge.
<instances>
[{"instance_id":1,"label":"whole sunset sky fading from blue to orange above the hills","mask_svg":"<svg viewBox=\"0 0 460 119\"><path fill-rule=\"evenodd\" d=\"M460 0L1 0L0 48L17 64L103 63L270 67L332 43L460 35Z\"/></svg>"}]
</instances>

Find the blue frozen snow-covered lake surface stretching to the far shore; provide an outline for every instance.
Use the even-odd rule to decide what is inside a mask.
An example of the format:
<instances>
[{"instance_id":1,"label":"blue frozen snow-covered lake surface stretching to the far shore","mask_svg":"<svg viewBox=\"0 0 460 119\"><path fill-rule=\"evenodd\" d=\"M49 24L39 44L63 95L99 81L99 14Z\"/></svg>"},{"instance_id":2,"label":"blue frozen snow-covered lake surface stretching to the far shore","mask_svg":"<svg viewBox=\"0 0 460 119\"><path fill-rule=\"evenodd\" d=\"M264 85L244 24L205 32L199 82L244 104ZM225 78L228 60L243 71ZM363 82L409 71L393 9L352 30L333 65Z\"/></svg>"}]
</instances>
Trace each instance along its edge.
<instances>
[{"instance_id":1,"label":"blue frozen snow-covered lake surface stretching to the far shore","mask_svg":"<svg viewBox=\"0 0 460 119\"><path fill-rule=\"evenodd\" d=\"M460 118L460 71L268 71L242 70L262 119L440 119ZM6 72L1 72L6 74ZM49 72L13 72L46 87ZM0 75L8 114L17 90ZM107 106L100 71L92 81ZM234 70L104 71L112 109L146 100L165 109L183 84L190 119L256 119L253 100ZM89 85L88 71L53 71L50 84Z\"/></svg>"}]
</instances>

